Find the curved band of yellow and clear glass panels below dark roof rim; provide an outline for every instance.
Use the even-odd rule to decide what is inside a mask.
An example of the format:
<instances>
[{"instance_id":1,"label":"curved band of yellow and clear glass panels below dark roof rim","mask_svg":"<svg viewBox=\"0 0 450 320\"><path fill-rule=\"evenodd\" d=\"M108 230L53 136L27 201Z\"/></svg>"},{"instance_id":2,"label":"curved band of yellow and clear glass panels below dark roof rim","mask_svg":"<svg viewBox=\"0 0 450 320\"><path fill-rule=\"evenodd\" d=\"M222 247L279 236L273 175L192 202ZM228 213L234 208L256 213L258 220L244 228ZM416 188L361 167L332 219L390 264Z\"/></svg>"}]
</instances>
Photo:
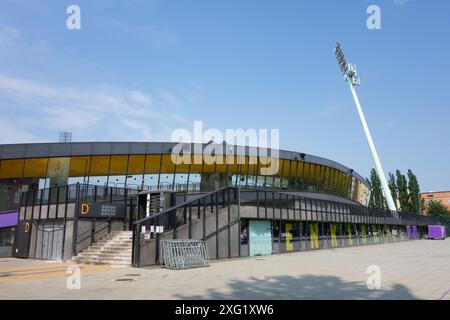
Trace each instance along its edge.
<instances>
[{"instance_id":1,"label":"curved band of yellow and clear glass panels below dark roof rim","mask_svg":"<svg viewBox=\"0 0 450 320\"><path fill-rule=\"evenodd\" d=\"M225 185L248 187L274 187L281 189L323 191L367 205L369 188L347 172L297 160L271 159L258 161L256 156L219 155L221 161L207 164L197 155L200 163L175 165L170 154L158 155L101 155L54 158L30 158L0 161L0 179L18 180L29 177L31 184L40 187L91 183L109 186L129 186L134 189L160 186L178 190L183 185L198 183L203 191ZM195 156L192 156L192 162ZM210 159L211 160L211 159ZM217 160L217 159L216 159ZM230 161L231 160L231 161ZM219 162L219 163L217 163ZM234 163L233 163L234 162ZM273 175L264 168L275 167ZM22 185L21 185L22 186ZM147 187L143 187L147 186Z\"/></svg>"}]
</instances>

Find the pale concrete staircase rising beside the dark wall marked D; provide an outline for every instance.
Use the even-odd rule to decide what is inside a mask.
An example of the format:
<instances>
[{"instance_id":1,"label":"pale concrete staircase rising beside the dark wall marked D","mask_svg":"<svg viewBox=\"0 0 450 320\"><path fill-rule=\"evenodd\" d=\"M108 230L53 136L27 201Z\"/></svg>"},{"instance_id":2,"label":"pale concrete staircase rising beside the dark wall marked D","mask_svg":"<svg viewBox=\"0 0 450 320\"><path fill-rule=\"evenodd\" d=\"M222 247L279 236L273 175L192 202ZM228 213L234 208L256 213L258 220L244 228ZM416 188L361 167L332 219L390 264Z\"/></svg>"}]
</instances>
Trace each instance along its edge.
<instances>
[{"instance_id":1,"label":"pale concrete staircase rising beside the dark wall marked D","mask_svg":"<svg viewBox=\"0 0 450 320\"><path fill-rule=\"evenodd\" d=\"M132 231L113 231L72 258L80 264L131 265Z\"/></svg>"}]
</instances>

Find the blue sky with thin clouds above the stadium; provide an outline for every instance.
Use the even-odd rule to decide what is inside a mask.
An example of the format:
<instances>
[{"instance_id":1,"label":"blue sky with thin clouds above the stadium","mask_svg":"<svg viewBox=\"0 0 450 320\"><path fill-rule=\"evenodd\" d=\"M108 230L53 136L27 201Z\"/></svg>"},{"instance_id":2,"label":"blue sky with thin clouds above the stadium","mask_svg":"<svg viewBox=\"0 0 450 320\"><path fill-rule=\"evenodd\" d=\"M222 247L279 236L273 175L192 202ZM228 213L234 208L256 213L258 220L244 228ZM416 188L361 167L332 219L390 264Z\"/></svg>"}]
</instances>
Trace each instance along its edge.
<instances>
[{"instance_id":1,"label":"blue sky with thin clouds above the stadium","mask_svg":"<svg viewBox=\"0 0 450 320\"><path fill-rule=\"evenodd\" d=\"M81 8L68 30L66 8ZM370 4L381 30L366 27ZM0 0L0 143L168 141L207 128L280 129L282 149L373 162L332 49L385 171L450 189L450 2Z\"/></svg>"}]
</instances>

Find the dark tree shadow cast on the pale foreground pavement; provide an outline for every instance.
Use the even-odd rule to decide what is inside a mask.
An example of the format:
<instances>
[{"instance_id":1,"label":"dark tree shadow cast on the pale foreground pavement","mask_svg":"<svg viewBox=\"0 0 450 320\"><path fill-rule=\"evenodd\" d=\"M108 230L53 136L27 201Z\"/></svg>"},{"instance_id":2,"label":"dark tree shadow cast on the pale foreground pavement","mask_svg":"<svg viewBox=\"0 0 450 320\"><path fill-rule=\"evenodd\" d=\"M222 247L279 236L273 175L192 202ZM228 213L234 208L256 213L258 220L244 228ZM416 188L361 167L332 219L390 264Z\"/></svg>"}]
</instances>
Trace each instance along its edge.
<instances>
[{"instance_id":1,"label":"dark tree shadow cast on the pale foreground pavement","mask_svg":"<svg viewBox=\"0 0 450 320\"><path fill-rule=\"evenodd\" d=\"M277 276L230 280L229 293L209 289L206 295L177 295L180 299L418 299L402 284L390 290L369 290L365 282L345 282L336 276ZM223 290L221 290L223 291ZM228 291L228 290L227 290Z\"/></svg>"}]
</instances>

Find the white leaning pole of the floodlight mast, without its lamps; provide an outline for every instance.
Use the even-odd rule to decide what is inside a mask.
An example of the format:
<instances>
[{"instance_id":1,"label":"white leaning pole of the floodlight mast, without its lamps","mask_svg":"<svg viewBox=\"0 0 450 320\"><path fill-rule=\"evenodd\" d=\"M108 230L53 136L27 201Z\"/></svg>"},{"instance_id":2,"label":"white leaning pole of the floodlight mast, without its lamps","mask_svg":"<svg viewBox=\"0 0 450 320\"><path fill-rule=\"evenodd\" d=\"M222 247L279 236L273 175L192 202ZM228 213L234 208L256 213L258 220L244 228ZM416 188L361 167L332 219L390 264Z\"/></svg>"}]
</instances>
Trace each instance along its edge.
<instances>
[{"instance_id":1,"label":"white leaning pole of the floodlight mast, without its lamps","mask_svg":"<svg viewBox=\"0 0 450 320\"><path fill-rule=\"evenodd\" d=\"M381 167L380 159L378 158L377 150L375 149L375 145L373 144L372 135L370 134L369 127L367 126L366 118L364 117L364 113L361 108L361 104L359 103L358 95L356 94L356 90L352 83L352 78L347 77L347 82L350 85L350 90L353 95L353 100L355 100L356 110L358 110L359 119L361 120L361 124L364 129L364 133L366 134L367 143L369 144L370 152L372 154L373 161L375 162L375 170L377 171L378 177L381 181L381 187L383 188L383 194L386 198L386 202L389 210L397 211L395 207L394 199L392 199L391 191L389 190L386 177L384 175L383 168Z\"/></svg>"}]
</instances>

